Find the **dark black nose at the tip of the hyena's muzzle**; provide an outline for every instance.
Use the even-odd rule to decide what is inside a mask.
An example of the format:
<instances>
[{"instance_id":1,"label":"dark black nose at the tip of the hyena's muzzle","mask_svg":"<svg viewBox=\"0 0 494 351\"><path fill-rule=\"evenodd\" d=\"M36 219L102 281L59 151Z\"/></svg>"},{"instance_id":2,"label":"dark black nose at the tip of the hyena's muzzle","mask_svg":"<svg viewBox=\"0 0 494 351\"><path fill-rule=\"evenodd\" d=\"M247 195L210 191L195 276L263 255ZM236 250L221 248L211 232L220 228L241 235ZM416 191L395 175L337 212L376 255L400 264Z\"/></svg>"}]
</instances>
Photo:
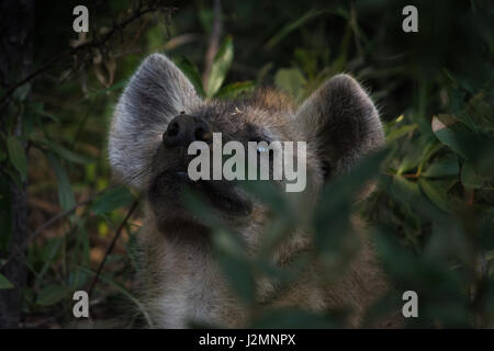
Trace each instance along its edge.
<instances>
[{"instance_id":1,"label":"dark black nose at the tip of the hyena's muzzle","mask_svg":"<svg viewBox=\"0 0 494 351\"><path fill-rule=\"evenodd\" d=\"M213 134L207 123L199 116L188 114L181 114L171 120L162 134L162 141L168 147L188 147L192 141L211 143L212 139Z\"/></svg>"}]
</instances>

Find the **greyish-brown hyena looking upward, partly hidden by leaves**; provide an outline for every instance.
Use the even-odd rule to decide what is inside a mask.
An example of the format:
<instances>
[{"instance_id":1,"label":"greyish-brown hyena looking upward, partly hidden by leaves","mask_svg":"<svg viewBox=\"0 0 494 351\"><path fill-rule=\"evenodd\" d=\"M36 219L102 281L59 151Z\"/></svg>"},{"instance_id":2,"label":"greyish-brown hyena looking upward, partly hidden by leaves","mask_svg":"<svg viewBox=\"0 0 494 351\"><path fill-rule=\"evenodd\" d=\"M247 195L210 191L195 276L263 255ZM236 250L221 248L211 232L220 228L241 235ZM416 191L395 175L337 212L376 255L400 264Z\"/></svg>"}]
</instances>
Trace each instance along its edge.
<instances>
[{"instance_id":1,"label":"greyish-brown hyena looking upward, partly hidden by leaves","mask_svg":"<svg viewBox=\"0 0 494 351\"><path fill-rule=\"evenodd\" d=\"M325 81L300 106L267 89L245 100L204 101L166 56L147 57L116 105L109 158L114 174L146 195L138 279L142 305L155 327L182 328L189 321L242 327L250 317L215 263L211 229L180 202L187 186L198 191L212 215L240 233L248 254L256 252L269 208L234 182L188 178L188 146L194 140L207 143L218 132L224 139L242 143L306 141L305 199L317 199L328 180L347 172L384 140L374 104L348 75ZM292 231L272 257L278 264L311 248L305 230ZM368 240L362 242L337 283L327 286L311 268L277 295L276 284L259 279L259 304L308 310L351 307L348 325L359 326L366 308L386 290ZM268 296L278 297L268 301Z\"/></svg>"}]
</instances>

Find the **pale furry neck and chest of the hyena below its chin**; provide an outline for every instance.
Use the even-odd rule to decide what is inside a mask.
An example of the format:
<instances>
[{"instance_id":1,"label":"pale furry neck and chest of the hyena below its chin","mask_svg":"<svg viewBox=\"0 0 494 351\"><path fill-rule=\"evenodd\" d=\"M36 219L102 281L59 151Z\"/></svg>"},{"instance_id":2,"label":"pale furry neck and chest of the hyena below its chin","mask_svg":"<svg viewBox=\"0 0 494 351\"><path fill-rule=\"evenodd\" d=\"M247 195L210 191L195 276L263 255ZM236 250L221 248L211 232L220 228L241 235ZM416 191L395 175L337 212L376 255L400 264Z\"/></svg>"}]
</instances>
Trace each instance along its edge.
<instances>
[{"instance_id":1,"label":"pale furry neck and chest of the hyena below its chin","mask_svg":"<svg viewBox=\"0 0 494 351\"><path fill-rule=\"evenodd\" d=\"M141 295L155 327L239 324L243 312L212 258L211 230L191 223L170 223L159 230L150 219L139 238L145 268ZM236 316L233 321L231 316Z\"/></svg>"}]
</instances>

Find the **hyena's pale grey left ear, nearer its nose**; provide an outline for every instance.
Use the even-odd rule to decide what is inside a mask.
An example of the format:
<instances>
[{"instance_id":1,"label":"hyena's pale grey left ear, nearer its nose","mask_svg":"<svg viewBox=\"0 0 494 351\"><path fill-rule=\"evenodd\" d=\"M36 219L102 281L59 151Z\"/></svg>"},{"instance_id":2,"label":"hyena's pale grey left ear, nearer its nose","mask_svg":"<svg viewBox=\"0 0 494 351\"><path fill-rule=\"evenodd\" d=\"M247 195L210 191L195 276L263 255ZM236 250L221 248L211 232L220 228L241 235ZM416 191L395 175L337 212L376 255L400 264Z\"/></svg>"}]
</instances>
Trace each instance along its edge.
<instances>
[{"instance_id":1,"label":"hyena's pale grey left ear, nearer its nose","mask_svg":"<svg viewBox=\"0 0 494 351\"><path fill-rule=\"evenodd\" d=\"M148 185L154 154L168 122L201 103L192 83L160 54L147 57L116 105L109 136L114 174L137 189Z\"/></svg>"}]
</instances>

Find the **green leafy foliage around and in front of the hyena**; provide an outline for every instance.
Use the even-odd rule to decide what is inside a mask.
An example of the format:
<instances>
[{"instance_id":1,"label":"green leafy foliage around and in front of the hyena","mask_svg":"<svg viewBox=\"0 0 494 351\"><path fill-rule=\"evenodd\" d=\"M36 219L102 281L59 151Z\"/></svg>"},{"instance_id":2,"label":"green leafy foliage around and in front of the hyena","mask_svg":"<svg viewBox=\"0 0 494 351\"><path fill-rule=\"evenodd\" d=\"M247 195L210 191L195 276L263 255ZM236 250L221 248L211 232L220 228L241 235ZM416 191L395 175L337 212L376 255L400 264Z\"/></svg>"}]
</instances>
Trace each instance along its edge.
<instances>
[{"instance_id":1,"label":"green leafy foliage around and in front of the hyena","mask_svg":"<svg viewBox=\"0 0 494 351\"><path fill-rule=\"evenodd\" d=\"M238 236L213 223L215 254L244 304L258 308L255 278L289 284L308 264L306 256L283 269L270 263L269 254L294 226L313 229L327 279L340 276L358 249L349 218L359 213L370 223L394 286L371 308L368 325L401 310L401 294L414 290L420 318L412 318L409 327L493 326L492 4L416 1L420 32L407 36L401 31L403 1L326 2L225 2L226 33L206 84L198 67L202 68L209 42L212 9L199 1L181 3L170 23L144 15L124 29L121 39L85 52L79 59L68 57L16 89L0 135L2 257L11 253L5 250L12 231L12 184L29 181L31 233L67 212L30 242L23 257L30 272L23 294L25 326L70 324L71 293L89 288L112 235L137 199L112 184L105 134L130 75L156 50L176 58L205 99L242 97L271 84L300 102L324 79L349 71L372 88L381 106L385 150L327 184L314 212L305 208L303 199L290 199L269 184L246 184L274 214L257 256L247 257ZM36 67L76 39L68 30L71 23L60 20L70 20L70 5L36 13L43 19L35 42ZM108 1L98 7L90 12L93 31L101 34L132 4ZM48 43L49 35L58 39ZM22 131L16 134L21 116ZM369 180L377 182L377 190L355 204L351 199ZM200 200L192 196L189 204L204 214ZM132 293L133 273L139 270L138 218L124 225L96 286L98 298L91 308L103 319L112 317L122 299L142 310ZM0 275L0 288L11 287ZM341 326L345 313L289 308L255 315L254 327L326 328Z\"/></svg>"}]
</instances>

